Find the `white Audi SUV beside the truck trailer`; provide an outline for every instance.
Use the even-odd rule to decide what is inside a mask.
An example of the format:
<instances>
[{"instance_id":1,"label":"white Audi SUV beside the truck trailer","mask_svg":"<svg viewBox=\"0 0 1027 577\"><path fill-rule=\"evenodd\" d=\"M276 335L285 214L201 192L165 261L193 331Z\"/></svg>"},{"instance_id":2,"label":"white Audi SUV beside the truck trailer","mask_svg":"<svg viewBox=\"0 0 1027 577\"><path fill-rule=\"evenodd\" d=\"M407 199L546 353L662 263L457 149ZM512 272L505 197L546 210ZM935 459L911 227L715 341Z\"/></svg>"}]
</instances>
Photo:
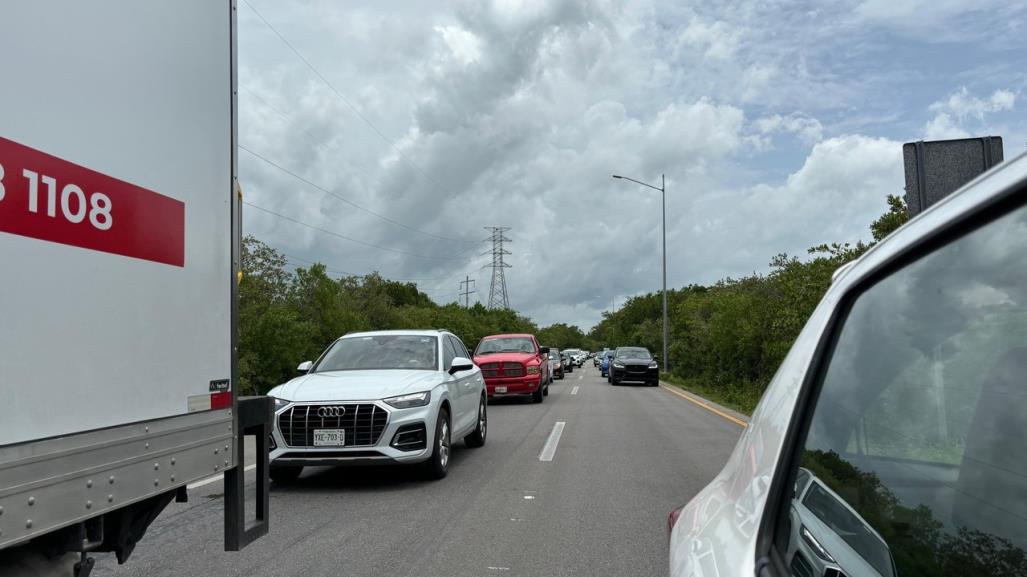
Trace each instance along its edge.
<instances>
[{"instance_id":1,"label":"white Audi SUV beside the truck trailer","mask_svg":"<svg viewBox=\"0 0 1027 577\"><path fill-rule=\"evenodd\" d=\"M376 331L335 341L275 399L271 478L304 466L418 464L449 470L453 439L485 445L485 380L448 331Z\"/></svg>"}]
</instances>

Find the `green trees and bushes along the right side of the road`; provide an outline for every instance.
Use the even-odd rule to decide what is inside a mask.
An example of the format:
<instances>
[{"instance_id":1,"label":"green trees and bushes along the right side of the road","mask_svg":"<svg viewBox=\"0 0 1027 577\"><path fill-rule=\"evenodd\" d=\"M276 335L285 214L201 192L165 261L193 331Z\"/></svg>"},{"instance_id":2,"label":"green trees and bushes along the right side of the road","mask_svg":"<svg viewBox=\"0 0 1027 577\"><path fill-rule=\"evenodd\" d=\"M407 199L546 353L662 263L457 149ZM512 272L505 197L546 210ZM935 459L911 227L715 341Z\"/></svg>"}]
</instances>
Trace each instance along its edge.
<instances>
[{"instance_id":1,"label":"green trees and bushes along the right side of the road","mask_svg":"<svg viewBox=\"0 0 1027 577\"><path fill-rule=\"evenodd\" d=\"M906 222L901 197L871 225L874 242ZM712 400L751 414L799 331L841 265L871 244L822 244L800 260L777 255L770 272L668 292L671 380ZM597 346L631 343L662 348L659 293L629 299L605 313L588 337ZM663 359L661 359L663 360Z\"/></svg>"}]
</instances>

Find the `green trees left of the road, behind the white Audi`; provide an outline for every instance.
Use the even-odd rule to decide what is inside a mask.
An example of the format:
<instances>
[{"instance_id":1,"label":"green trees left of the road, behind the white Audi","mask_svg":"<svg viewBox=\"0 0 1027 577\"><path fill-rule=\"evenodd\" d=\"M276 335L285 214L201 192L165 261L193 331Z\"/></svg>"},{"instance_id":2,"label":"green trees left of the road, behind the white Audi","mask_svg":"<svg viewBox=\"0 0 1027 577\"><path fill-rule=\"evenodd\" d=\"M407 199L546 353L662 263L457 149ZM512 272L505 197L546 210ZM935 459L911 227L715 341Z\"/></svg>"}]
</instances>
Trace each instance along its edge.
<instances>
[{"instance_id":1,"label":"green trees left of the road, behind the white Audi","mask_svg":"<svg viewBox=\"0 0 1027 577\"><path fill-rule=\"evenodd\" d=\"M265 393L296 376L332 341L354 331L448 329L473 347L486 335L537 333L511 310L438 305L408 282L377 273L330 277L324 265L287 269L284 255L249 236L239 282L239 389ZM578 331L580 334L580 331Z\"/></svg>"}]
</instances>

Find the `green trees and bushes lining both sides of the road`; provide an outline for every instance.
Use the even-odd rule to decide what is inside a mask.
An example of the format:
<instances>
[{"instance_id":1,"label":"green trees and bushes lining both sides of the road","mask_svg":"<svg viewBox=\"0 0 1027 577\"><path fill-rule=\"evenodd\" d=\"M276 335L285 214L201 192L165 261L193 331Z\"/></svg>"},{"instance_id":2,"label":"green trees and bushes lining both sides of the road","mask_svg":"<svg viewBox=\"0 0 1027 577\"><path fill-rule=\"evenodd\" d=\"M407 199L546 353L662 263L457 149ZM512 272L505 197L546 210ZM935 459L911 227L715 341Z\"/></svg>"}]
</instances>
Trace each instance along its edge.
<instances>
[{"instance_id":1,"label":"green trees and bushes lining both sides of the road","mask_svg":"<svg viewBox=\"0 0 1027 577\"><path fill-rule=\"evenodd\" d=\"M871 225L874 241L906 222L902 198ZM668 293L669 380L743 413L752 413L799 331L831 283L831 274L870 244L822 244L800 260L777 255L767 274L727 278ZM287 268L284 255L254 237L243 240L239 283L239 381L263 393L296 375L332 341L353 331L453 331L468 347L498 333L534 333L545 346L599 350L638 345L661 349L658 293L629 299L587 335L563 323L539 329L511 310L439 305L409 282L377 273L330 277L324 265ZM665 359L660 359L661 361Z\"/></svg>"}]
</instances>

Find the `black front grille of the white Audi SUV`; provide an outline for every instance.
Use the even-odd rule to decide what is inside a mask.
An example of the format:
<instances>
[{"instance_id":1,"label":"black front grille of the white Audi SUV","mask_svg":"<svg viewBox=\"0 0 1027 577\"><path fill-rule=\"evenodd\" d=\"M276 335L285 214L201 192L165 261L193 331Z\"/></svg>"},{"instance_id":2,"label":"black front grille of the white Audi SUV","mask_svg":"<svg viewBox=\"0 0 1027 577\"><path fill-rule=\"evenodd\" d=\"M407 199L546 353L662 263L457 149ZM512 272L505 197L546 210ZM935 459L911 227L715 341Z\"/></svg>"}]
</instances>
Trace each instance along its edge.
<instances>
[{"instance_id":1,"label":"black front grille of the white Audi SUV","mask_svg":"<svg viewBox=\"0 0 1027 577\"><path fill-rule=\"evenodd\" d=\"M321 414L339 414L338 417L318 417ZM345 411L338 411L344 409ZM371 447L378 443L388 412L370 402L345 405L296 405L278 415L278 430L289 447L313 447L314 429L344 429L343 447Z\"/></svg>"}]
</instances>

